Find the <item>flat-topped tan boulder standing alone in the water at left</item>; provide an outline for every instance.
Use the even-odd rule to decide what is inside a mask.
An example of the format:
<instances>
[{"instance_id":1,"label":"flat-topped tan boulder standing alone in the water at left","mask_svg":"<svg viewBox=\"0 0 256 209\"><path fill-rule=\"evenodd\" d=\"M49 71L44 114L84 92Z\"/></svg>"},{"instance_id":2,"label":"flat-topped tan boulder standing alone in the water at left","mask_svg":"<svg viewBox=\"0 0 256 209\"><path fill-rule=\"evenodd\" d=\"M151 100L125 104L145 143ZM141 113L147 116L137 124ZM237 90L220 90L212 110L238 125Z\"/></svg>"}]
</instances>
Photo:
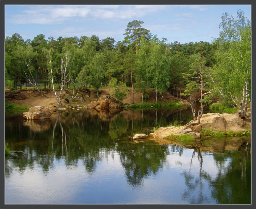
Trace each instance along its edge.
<instances>
[{"instance_id":1,"label":"flat-topped tan boulder standing alone in the water at left","mask_svg":"<svg viewBox=\"0 0 256 209\"><path fill-rule=\"evenodd\" d=\"M23 113L23 117L28 120L46 119L50 118L51 115L50 109L45 106L31 107L28 112Z\"/></svg>"}]
</instances>

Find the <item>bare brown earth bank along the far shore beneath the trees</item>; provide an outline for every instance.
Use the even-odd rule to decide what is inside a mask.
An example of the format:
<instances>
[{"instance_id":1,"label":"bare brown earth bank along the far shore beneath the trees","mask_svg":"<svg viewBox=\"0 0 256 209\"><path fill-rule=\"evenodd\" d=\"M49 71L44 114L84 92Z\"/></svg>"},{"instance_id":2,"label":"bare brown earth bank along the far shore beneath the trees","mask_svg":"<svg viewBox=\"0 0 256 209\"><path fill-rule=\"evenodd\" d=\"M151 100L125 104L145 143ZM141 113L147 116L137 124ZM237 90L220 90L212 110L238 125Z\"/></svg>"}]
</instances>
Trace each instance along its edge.
<instances>
[{"instance_id":1,"label":"bare brown earth bank along the far shore beneath the trees","mask_svg":"<svg viewBox=\"0 0 256 209\"><path fill-rule=\"evenodd\" d=\"M132 96L132 88L129 88L129 94L123 99L123 105L131 105L133 103L133 96ZM23 90L5 90L5 101L11 102L13 105L20 105L20 106L26 106L26 107L32 107L32 106L46 106L51 111L55 111L58 108L57 100L55 97L55 94L52 89L41 89L43 93L43 97L39 94L37 90L34 89L23 89ZM146 103L155 103L155 93L154 89L149 89L149 98L146 101ZM57 95L59 95L59 89L56 90ZM101 88L99 97L106 97L109 94L109 88ZM72 96L72 91L63 90L62 93L62 103L63 105L67 105L67 102L65 99L70 98ZM78 106L80 108L86 108L92 101L97 101L97 95L94 92L94 88L89 88L87 91L80 90L77 97L70 102L70 105L72 106ZM142 103L142 94L140 92L134 93L134 102L135 104L141 104ZM165 95L163 95L162 100L158 101L159 104L163 103L185 103L186 100L182 100L180 98L174 97L170 94L169 91L166 92ZM145 103L145 100L144 100ZM146 104L145 103L145 104Z\"/></svg>"}]
</instances>

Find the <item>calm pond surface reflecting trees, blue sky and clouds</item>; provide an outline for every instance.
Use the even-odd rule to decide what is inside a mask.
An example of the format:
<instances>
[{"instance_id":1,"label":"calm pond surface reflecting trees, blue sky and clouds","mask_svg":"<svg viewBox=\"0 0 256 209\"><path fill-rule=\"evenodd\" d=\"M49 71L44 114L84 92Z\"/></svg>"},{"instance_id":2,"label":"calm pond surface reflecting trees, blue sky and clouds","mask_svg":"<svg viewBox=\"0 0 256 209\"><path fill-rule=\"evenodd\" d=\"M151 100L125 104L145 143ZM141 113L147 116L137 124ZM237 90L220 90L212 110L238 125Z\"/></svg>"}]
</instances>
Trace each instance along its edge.
<instances>
[{"instance_id":1,"label":"calm pond surface reflecting trees, blue sky and clouds","mask_svg":"<svg viewBox=\"0 0 256 209\"><path fill-rule=\"evenodd\" d=\"M190 109L6 112L5 203L250 204L250 138L133 141Z\"/></svg>"}]
</instances>

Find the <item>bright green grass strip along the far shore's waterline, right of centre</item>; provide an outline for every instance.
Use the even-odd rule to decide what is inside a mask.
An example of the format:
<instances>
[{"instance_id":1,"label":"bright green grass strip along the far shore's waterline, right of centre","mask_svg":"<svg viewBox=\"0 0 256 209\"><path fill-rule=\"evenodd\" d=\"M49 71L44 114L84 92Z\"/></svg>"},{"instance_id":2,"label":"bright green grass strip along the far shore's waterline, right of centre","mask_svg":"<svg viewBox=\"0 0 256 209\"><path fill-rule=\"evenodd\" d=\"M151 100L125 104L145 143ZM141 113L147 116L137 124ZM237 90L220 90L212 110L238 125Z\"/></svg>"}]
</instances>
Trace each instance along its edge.
<instances>
[{"instance_id":1,"label":"bright green grass strip along the far shore's waterline, right of centre","mask_svg":"<svg viewBox=\"0 0 256 209\"><path fill-rule=\"evenodd\" d=\"M131 105L124 105L123 108L126 109L147 109L147 108L174 108L178 109L182 107L182 102L168 102L168 103L137 103L137 104L131 104Z\"/></svg>"}]
</instances>

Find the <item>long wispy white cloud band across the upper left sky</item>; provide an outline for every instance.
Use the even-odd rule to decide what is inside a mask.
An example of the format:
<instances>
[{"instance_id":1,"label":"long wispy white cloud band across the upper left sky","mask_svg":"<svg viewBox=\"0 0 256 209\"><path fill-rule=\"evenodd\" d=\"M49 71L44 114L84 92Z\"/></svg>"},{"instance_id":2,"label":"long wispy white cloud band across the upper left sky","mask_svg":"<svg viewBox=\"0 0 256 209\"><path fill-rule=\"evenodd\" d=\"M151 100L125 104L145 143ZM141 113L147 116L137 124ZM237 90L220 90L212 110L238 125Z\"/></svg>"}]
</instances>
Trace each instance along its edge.
<instances>
[{"instance_id":1,"label":"long wispy white cloud band across the upper left sky","mask_svg":"<svg viewBox=\"0 0 256 209\"><path fill-rule=\"evenodd\" d=\"M44 5L28 6L9 20L14 24L54 24L67 18L132 19L166 9L162 5Z\"/></svg>"}]
</instances>

